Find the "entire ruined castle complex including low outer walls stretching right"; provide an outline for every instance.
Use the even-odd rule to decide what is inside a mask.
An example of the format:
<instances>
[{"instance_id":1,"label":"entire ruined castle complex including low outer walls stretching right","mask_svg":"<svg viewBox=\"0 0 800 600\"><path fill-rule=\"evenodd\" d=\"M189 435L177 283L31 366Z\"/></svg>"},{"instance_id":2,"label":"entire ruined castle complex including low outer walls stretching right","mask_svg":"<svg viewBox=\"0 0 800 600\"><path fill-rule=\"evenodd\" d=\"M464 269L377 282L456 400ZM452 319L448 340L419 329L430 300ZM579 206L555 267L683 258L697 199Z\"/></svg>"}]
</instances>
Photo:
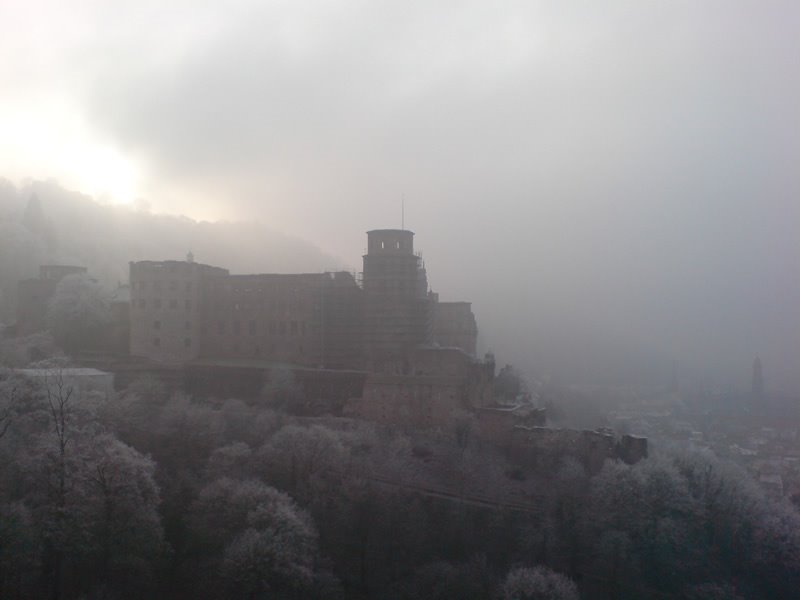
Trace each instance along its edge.
<instances>
[{"instance_id":1,"label":"entire ruined castle complex including low outer walls stretching right","mask_svg":"<svg viewBox=\"0 0 800 600\"><path fill-rule=\"evenodd\" d=\"M482 439L526 463L575 454L599 470L606 458L647 455L643 438L540 427L543 410L498 405L494 358L476 356L471 305L440 302L430 290L413 232L378 229L367 238L360 278L232 275L191 254L131 262L113 311L129 326L128 352L81 363L112 372L117 389L146 374L193 395L259 399L289 382L301 414L413 428L453 427L467 416ZM76 273L85 269L46 266L21 282L20 334L45 327L58 281Z\"/></svg>"}]
</instances>

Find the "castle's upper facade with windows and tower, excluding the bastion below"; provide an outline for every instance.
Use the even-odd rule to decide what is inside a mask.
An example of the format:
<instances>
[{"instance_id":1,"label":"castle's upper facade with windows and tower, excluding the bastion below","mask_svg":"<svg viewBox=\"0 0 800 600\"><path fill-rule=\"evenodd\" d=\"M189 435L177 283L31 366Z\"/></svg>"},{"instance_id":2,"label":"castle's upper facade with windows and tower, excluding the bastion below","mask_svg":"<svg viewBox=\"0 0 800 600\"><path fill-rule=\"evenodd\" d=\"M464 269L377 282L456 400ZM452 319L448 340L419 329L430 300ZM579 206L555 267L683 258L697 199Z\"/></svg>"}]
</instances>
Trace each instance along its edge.
<instances>
[{"instance_id":1,"label":"castle's upper facade with windows and tower, excluding the bastion below","mask_svg":"<svg viewBox=\"0 0 800 600\"><path fill-rule=\"evenodd\" d=\"M414 233L367 233L363 281L345 271L232 275L186 261L130 263L130 352L156 363L198 359L410 374L420 348L474 359L470 304L428 288Z\"/></svg>"}]
</instances>

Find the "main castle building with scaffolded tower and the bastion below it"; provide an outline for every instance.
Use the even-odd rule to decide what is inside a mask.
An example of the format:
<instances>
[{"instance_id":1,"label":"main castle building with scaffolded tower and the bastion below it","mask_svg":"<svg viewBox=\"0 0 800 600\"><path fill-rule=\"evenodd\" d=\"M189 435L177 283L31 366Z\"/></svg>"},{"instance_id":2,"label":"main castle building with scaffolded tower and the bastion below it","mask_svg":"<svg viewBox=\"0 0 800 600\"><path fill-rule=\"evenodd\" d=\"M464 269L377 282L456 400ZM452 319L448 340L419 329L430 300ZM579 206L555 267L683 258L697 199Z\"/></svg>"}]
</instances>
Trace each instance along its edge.
<instances>
[{"instance_id":1,"label":"main castle building with scaffolded tower and the bastion below it","mask_svg":"<svg viewBox=\"0 0 800 600\"><path fill-rule=\"evenodd\" d=\"M367 238L361 281L346 271L232 275L191 255L132 262L130 354L261 372L263 383L276 368L317 382L362 373L348 409L377 421L437 425L492 404L494 362L475 357L470 304L440 302L429 289L413 232Z\"/></svg>"}]
</instances>

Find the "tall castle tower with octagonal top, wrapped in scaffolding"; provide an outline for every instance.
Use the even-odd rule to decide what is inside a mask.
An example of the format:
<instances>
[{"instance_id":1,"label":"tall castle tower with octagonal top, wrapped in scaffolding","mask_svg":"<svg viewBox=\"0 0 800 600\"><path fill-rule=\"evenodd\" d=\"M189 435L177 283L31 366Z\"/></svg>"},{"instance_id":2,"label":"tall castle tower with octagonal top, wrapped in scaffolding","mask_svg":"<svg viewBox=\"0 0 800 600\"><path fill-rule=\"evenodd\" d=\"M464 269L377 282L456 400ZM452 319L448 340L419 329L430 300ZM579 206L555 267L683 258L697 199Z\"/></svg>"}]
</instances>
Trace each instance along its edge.
<instances>
[{"instance_id":1,"label":"tall castle tower with octagonal top, wrapped in scaffolding","mask_svg":"<svg viewBox=\"0 0 800 600\"><path fill-rule=\"evenodd\" d=\"M364 255L366 346L373 360L400 358L430 342L431 301L422 259L414 254L414 232L367 232Z\"/></svg>"}]
</instances>

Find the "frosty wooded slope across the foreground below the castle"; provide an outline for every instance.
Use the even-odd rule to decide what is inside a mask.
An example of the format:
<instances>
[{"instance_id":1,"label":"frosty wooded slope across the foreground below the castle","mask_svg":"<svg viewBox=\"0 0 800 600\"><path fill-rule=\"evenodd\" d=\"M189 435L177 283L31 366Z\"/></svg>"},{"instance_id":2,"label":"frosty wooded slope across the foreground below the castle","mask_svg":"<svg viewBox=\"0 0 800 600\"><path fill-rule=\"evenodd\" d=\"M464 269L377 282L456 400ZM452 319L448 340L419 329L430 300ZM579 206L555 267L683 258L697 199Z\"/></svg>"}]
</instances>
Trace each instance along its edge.
<instances>
[{"instance_id":1,"label":"frosty wooded slope across the foreground below the castle","mask_svg":"<svg viewBox=\"0 0 800 600\"><path fill-rule=\"evenodd\" d=\"M304 418L269 395L200 401L150 379L70 395L50 365L49 387L0 373L3 598L768 600L800 586L796 510L706 452L542 470L463 428Z\"/></svg>"}]
</instances>

